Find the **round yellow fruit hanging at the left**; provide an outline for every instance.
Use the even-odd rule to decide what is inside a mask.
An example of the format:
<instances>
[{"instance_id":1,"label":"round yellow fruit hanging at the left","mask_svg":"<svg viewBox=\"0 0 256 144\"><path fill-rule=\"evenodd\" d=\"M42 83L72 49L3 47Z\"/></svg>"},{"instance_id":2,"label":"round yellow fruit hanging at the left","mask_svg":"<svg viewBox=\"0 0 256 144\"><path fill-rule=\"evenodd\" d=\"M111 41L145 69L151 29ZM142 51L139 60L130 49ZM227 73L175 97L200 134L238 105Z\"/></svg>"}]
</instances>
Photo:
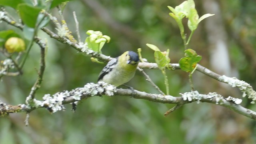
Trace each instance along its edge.
<instances>
[{"instance_id":1,"label":"round yellow fruit hanging at the left","mask_svg":"<svg viewBox=\"0 0 256 144\"><path fill-rule=\"evenodd\" d=\"M22 52L26 49L25 42L21 38L11 37L4 44L9 53Z\"/></svg>"}]
</instances>

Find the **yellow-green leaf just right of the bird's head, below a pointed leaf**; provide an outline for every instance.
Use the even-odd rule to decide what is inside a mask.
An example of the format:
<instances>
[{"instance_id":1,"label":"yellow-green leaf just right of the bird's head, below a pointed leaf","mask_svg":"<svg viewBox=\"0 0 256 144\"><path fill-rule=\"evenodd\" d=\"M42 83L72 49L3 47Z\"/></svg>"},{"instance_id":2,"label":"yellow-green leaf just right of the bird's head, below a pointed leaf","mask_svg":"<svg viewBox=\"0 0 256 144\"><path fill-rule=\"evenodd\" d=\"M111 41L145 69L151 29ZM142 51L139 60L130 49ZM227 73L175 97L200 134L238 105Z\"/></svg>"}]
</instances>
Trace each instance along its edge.
<instances>
[{"instance_id":1,"label":"yellow-green leaf just right of the bird's head, below a pointed leaf","mask_svg":"<svg viewBox=\"0 0 256 144\"><path fill-rule=\"evenodd\" d=\"M165 70L166 66L169 65L170 58L167 59L166 55L163 52L155 51L154 58L155 58L157 66L160 70Z\"/></svg>"}]
</instances>

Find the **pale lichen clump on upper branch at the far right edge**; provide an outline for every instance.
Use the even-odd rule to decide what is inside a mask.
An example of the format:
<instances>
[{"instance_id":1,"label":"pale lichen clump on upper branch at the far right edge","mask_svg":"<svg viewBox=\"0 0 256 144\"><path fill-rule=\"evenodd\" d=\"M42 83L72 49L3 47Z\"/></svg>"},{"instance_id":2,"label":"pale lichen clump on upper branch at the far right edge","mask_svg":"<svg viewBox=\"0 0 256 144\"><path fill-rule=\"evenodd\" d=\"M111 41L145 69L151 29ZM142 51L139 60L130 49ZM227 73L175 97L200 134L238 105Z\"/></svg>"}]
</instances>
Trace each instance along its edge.
<instances>
[{"instance_id":1,"label":"pale lichen clump on upper branch at the far right edge","mask_svg":"<svg viewBox=\"0 0 256 144\"><path fill-rule=\"evenodd\" d=\"M225 75L220 76L219 80L222 82L226 82L232 87L238 87L241 92L243 92L242 96L247 96L252 100L252 104L256 102L256 92L253 90L252 86L243 80L238 80L236 77L227 77Z\"/></svg>"}]
</instances>

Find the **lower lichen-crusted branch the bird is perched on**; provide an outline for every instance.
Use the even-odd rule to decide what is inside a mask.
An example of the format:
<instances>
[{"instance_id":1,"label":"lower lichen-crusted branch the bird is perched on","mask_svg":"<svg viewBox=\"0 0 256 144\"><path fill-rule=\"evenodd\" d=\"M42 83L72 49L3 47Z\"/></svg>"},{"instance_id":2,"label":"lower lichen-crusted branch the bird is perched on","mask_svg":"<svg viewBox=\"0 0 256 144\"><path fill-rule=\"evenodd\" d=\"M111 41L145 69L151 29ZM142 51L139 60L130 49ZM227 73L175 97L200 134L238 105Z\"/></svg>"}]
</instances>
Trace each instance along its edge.
<instances>
[{"instance_id":1,"label":"lower lichen-crusted branch the bird is perched on","mask_svg":"<svg viewBox=\"0 0 256 144\"><path fill-rule=\"evenodd\" d=\"M197 102L198 104L200 102L207 102L224 106L230 110L233 110L234 112L256 120L256 112L241 106L241 99L232 98L231 96L224 98L216 92L209 94L199 94L197 91L192 91L181 94L182 96L180 97L174 97L170 95L164 96L161 94L149 94L146 92L140 92L138 90L134 90L133 92L130 89L116 89L115 86L106 84L104 82L99 82L97 84L88 83L82 88L76 88L71 91L57 92L53 95L45 94L42 101L33 99L33 105L19 104L17 106L11 106L0 102L0 116L16 112L31 112L37 108L46 108L50 112L57 112L59 110L65 109L64 104L74 103L76 101L87 99L92 96L102 95L128 96L136 99L144 99L164 104L177 104L179 106L192 102ZM31 100L31 97L28 97L27 100Z\"/></svg>"}]
</instances>

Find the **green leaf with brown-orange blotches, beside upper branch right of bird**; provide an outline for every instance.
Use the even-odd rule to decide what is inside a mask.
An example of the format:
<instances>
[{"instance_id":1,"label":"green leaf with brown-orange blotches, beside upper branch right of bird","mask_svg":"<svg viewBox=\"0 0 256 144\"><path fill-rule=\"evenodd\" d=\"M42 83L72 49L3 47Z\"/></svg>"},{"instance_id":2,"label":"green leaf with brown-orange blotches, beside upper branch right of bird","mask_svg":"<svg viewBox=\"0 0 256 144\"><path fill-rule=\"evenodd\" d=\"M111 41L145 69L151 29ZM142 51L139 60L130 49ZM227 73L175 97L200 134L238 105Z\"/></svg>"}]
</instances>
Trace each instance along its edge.
<instances>
[{"instance_id":1,"label":"green leaf with brown-orange blotches, beside upper branch right of bird","mask_svg":"<svg viewBox=\"0 0 256 144\"><path fill-rule=\"evenodd\" d=\"M202 59L202 56L198 56L196 51L192 49L187 49L184 52L187 56L180 59L180 68L185 72L192 72L196 67L196 64Z\"/></svg>"}]
</instances>

